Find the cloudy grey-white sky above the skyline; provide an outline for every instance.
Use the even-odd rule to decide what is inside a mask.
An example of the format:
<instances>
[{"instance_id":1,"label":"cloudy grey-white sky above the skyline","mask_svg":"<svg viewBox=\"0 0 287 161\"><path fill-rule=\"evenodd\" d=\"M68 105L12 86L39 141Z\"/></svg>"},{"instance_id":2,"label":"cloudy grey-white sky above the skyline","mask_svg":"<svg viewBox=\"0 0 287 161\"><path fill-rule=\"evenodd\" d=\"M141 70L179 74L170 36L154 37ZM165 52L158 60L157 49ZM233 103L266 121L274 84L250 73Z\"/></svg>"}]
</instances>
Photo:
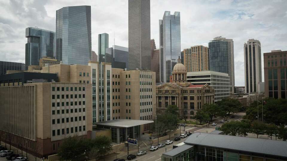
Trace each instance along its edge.
<instances>
[{"instance_id":1,"label":"cloudy grey-white sky above the skyline","mask_svg":"<svg viewBox=\"0 0 287 161\"><path fill-rule=\"evenodd\" d=\"M114 38L116 45L128 47L127 0L0 0L0 61L25 63L25 28L55 31L56 10L77 5L91 6L92 49L96 53L98 34L104 32L109 34L109 47ZM151 0L151 39L157 47L158 20L164 11L180 12L182 50L208 47L217 36L233 39L235 86L245 85L243 46L248 39L261 42L262 63L264 52L287 50L286 0Z\"/></svg>"}]
</instances>

